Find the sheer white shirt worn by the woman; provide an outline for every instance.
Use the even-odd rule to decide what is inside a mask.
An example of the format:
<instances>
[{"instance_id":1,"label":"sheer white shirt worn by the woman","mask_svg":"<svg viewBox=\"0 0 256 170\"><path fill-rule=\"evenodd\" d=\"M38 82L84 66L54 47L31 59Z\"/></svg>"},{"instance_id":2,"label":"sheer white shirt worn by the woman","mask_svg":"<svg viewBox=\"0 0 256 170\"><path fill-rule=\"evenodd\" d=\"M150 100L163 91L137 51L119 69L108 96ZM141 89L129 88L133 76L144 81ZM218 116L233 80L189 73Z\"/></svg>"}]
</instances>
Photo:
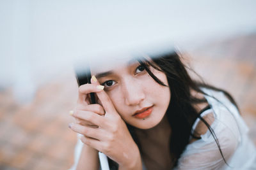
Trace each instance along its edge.
<instances>
[{"instance_id":1,"label":"sheer white shirt worn by the woman","mask_svg":"<svg viewBox=\"0 0 256 170\"><path fill-rule=\"evenodd\" d=\"M209 96L205 96L211 105L211 110L202 113L214 113L211 125L227 164L221 157L220 150L211 132L201 135L202 139L186 146L176 169L256 169L256 149L248 138L248 127L243 118L223 92L202 89ZM213 97L216 99L214 99ZM199 119L198 119L199 120ZM195 121L195 129L198 120Z\"/></svg>"}]
</instances>

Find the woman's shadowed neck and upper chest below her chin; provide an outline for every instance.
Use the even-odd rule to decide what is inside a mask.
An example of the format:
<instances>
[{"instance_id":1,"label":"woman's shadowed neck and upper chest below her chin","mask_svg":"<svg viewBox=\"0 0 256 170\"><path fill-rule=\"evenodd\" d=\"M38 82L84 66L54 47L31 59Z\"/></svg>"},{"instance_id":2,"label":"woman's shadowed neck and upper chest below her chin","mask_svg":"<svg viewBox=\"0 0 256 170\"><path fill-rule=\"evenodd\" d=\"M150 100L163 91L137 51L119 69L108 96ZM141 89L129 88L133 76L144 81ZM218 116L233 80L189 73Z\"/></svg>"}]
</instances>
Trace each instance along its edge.
<instances>
[{"instance_id":1,"label":"woman's shadowed neck and upper chest below her chin","mask_svg":"<svg viewBox=\"0 0 256 170\"><path fill-rule=\"evenodd\" d=\"M171 127L166 116L151 129L135 129L140 143L141 157L147 169L170 169Z\"/></svg>"}]
</instances>

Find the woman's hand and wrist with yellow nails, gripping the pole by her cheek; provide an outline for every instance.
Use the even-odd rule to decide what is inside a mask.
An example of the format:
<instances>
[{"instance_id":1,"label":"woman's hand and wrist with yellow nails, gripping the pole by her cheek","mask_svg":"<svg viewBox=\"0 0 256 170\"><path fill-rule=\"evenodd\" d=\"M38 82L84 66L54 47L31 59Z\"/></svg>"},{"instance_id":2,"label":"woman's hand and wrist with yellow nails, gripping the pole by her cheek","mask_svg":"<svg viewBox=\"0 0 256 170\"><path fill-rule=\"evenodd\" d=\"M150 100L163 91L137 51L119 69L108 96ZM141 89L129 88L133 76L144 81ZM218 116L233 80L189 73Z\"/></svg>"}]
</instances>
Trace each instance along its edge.
<instances>
[{"instance_id":1,"label":"woman's hand and wrist with yellow nails, gripping the pole by her cheek","mask_svg":"<svg viewBox=\"0 0 256 170\"><path fill-rule=\"evenodd\" d=\"M95 77L94 77L95 78ZM100 89L97 80L79 87L79 99L73 116L77 124L70 128L83 134L81 141L119 164L120 169L141 169L138 146L134 143L124 120L118 115L111 99ZM93 81L94 80L94 81ZM90 104L88 94L95 92L99 103Z\"/></svg>"}]
</instances>

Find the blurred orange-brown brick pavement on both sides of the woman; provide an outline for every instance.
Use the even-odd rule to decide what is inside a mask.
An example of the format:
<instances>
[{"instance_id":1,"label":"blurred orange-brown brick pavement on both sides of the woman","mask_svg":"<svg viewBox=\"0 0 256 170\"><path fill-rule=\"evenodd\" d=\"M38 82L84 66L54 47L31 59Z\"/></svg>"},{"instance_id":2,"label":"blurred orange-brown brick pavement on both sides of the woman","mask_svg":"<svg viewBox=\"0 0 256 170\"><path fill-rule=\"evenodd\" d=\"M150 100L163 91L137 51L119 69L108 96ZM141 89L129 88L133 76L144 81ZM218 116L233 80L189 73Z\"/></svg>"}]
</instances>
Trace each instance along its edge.
<instances>
[{"instance_id":1,"label":"blurred orange-brown brick pavement on both sides of the woman","mask_svg":"<svg viewBox=\"0 0 256 170\"><path fill-rule=\"evenodd\" d=\"M256 34L216 41L185 54L205 81L228 90L256 143ZM76 134L68 115L76 103L72 74L45 83L33 103L15 103L12 89L0 91L0 169L68 169Z\"/></svg>"}]
</instances>

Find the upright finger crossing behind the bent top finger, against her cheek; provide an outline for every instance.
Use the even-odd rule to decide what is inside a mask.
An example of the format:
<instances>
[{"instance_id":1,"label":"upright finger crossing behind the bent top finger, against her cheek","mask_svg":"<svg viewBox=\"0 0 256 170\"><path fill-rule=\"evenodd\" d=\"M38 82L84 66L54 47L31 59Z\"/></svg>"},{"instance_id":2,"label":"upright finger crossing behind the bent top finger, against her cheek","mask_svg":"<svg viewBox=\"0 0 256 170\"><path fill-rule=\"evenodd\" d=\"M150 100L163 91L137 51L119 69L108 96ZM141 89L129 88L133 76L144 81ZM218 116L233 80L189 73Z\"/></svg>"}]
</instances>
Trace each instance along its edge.
<instances>
[{"instance_id":1,"label":"upright finger crossing behind the bent top finger, against her cheek","mask_svg":"<svg viewBox=\"0 0 256 170\"><path fill-rule=\"evenodd\" d=\"M91 82L94 85L99 85L99 81L95 78L95 76L92 76ZM101 90L101 91L97 92L96 94L97 94L104 110L108 113L115 113L115 106L113 105L108 94L104 90Z\"/></svg>"}]
</instances>

